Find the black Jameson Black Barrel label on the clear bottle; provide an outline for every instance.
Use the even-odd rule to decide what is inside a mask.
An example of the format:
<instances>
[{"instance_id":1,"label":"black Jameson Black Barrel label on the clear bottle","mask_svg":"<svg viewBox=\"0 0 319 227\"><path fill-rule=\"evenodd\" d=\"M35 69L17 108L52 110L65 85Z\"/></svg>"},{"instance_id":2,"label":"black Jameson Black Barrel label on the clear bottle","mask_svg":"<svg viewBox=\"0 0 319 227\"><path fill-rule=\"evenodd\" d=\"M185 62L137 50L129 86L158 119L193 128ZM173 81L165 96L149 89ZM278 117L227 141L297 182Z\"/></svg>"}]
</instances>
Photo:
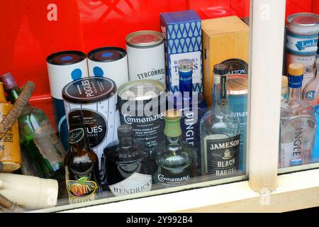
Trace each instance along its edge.
<instances>
[{"instance_id":1,"label":"black Jameson Black Barrel label on the clear bottle","mask_svg":"<svg viewBox=\"0 0 319 227\"><path fill-rule=\"evenodd\" d=\"M231 138L223 136L208 135L204 138L208 175L226 176L238 170L240 135Z\"/></svg>"}]
</instances>

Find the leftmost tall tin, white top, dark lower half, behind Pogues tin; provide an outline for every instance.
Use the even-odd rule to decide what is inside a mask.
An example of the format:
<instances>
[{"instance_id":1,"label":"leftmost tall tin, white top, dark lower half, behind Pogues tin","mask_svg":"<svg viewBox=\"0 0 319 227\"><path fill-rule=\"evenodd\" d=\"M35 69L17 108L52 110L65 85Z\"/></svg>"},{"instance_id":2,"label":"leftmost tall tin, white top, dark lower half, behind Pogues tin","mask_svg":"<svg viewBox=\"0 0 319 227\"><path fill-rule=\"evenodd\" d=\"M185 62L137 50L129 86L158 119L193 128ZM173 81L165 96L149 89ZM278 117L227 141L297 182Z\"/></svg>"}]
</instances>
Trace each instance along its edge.
<instances>
[{"instance_id":1,"label":"leftmost tall tin, white top, dark lower half, behind Pogues tin","mask_svg":"<svg viewBox=\"0 0 319 227\"><path fill-rule=\"evenodd\" d=\"M56 52L47 57L47 72L57 132L63 147L68 150L67 119L65 117L62 89L69 82L88 77L86 54L77 50Z\"/></svg>"}]
</instances>

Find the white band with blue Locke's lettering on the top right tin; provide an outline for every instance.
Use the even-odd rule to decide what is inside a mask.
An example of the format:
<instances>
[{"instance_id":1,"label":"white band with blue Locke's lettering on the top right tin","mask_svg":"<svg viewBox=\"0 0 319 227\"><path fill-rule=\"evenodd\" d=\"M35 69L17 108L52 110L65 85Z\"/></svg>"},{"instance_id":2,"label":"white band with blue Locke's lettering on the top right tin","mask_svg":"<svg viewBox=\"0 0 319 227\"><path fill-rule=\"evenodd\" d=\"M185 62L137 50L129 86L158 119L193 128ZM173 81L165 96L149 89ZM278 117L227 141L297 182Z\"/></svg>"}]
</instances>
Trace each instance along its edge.
<instances>
[{"instance_id":1,"label":"white band with blue Locke's lettering on the top right tin","mask_svg":"<svg viewBox=\"0 0 319 227\"><path fill-rule=\"evenodd\" d=\"M298 53L315 54L317 52L318 34L317 35L295 35L287 34L286 48Z\"/></svg>"}]
</instances>

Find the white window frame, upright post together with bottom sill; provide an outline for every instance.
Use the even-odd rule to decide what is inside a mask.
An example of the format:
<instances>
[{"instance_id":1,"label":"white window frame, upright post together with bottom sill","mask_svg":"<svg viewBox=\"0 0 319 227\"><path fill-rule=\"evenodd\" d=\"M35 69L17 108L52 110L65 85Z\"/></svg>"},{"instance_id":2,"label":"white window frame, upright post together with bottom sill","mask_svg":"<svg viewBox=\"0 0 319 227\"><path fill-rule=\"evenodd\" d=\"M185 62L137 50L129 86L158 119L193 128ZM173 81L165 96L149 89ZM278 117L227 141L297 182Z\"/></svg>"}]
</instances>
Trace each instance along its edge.
<instances>
[{"instance_id":1,"label":"white window frame, upright post together with bottom sill","mask_svg":"<svg viewBox=\"0 0 319 227\"><path fill-rule=\"evenodd\" d=\"M188 189L182 192L163 189L140 199L101 199L86 207L63 206L63 212L281 212L319 206L319 170L277 176L285 9L285 0L250 0L249 180L216 186L230 179L206 182L179 188Z\"/></svg>"}]
</instances>

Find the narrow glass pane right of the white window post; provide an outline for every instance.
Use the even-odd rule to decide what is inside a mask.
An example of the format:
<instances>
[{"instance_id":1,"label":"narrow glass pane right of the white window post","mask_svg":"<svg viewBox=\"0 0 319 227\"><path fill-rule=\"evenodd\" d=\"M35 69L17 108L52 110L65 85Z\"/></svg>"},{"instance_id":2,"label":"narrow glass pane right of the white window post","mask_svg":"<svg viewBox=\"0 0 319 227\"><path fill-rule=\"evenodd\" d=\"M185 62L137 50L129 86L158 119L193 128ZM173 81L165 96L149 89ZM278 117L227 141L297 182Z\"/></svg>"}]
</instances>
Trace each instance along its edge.
<instances>
[{"instance_id":1,"label":"narrow glass pane right of the white window post","mask_svg":"<svg viewBox=\"0 0 319 227\"><path fill-rule=\"evenodd\" d=\"M279 173L319 167L319 16L307 7L287 3Z\"/></svg>"}]
</instances>

